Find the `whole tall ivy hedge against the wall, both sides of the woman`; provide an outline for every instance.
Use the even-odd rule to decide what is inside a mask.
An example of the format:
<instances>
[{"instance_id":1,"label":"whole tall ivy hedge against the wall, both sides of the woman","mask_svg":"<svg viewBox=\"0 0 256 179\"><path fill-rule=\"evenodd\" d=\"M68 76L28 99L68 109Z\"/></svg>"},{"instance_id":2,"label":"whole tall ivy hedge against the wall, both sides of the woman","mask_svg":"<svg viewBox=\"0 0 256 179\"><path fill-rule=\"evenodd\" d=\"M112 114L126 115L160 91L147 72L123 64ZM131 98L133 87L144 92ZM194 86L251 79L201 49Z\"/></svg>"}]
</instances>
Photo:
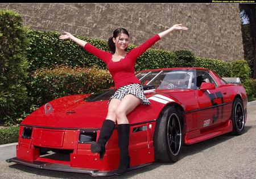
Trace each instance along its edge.
<instances>
[{"instance_id":1,"label":"whole tall ivy hedge against the wall, both sides of the woman","mask_svg":"<svg viewBox=\"0 0 256 179\"><path fill-rule=\"evenodd\" d=\"M60 40L60 33L27 31L30 45L27 48L30 71L40 68L56 68L59 65L74 67L91 67L106 69L106 65L96 56L86 52L82 47L71 40ZM77 36L88 41L97 48L109 51L106 40ZM128 50L135 48L129 45ZM197 66L212 69L220 76L230 76L230 64L221 60L196 57L192 51L180 50L175 52L162 49L148 49L140 56L135 64L135 70L172 68L181 66Z\"/></svg>"}]
</instances>

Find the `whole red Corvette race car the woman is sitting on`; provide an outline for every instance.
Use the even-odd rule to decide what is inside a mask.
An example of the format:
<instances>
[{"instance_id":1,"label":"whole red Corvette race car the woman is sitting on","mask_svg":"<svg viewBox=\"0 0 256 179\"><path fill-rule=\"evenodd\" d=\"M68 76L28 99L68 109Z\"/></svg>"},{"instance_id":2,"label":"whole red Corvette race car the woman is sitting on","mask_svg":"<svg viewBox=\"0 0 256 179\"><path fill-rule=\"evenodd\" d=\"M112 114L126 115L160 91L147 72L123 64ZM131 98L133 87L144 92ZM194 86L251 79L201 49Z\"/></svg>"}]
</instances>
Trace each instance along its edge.
<instances>
[{"instance_id":1,"label":"whole red Corvette race car the woman is sitting on","mask_svg":"<svg viewBox=\"0 0 256 179\"><path fill-rule=\"evenodd\" d=\"M127 115L131 124L130 168L154 161L175 162L183 144L228 132L240 135L247 95L203 68L168 68L137 73L151 105ZM110 176L118 168L118 134L106 144L103 160L90 151L108 112L113 89L69 95L43 105L20 124L16 157L7 161L35 168Z\"/></svg>"}]
</instances>

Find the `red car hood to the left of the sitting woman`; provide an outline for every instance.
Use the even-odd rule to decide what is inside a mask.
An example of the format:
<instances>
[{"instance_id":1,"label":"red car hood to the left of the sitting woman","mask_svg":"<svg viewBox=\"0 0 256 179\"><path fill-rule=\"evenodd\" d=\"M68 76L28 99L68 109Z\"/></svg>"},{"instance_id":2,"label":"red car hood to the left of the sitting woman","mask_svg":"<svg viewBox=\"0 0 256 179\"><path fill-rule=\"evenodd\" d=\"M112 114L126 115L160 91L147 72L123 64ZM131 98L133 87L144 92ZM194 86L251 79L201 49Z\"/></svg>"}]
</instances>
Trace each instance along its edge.
<instances>
[{"instance_id":1,"label":"red car hood to the left of the sitting woman","mask_svg":"<svg viewBox=\"0 0 256 179\"><path fill-rule=\"evenodd\" d=\"M69 95L55 99L49 102L53 109L51 112L46 114L43 105L21 124L53 128L100 128L108 113L108 101L86 102L86 96Z\"/></svg>"}]
</instances>

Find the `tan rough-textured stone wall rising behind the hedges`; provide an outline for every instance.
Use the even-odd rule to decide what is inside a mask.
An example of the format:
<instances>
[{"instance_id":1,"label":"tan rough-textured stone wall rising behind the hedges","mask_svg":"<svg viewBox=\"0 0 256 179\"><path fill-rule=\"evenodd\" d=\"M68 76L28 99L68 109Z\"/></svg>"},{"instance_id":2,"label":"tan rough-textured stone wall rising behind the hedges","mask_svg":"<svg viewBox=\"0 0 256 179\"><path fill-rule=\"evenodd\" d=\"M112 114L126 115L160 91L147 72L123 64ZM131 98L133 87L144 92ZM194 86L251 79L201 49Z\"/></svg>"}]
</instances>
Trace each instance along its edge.
<instances>
[{"instance_id":1,"label":"tan rough-textured stone wall rising behind the hedges","mask_svg":"<svg viewBox=\"0 0 256 179\"><path fill-rule=\"evenodd\" d=\"M42 31L108 39L115 28L125 27L135 45L182 23L189 31L175 32L154 48L191 49L197 56L225 61L243 59L238 4L0 3L0 9L16 10L24 24Z\"/></svg>"}]
</instances>

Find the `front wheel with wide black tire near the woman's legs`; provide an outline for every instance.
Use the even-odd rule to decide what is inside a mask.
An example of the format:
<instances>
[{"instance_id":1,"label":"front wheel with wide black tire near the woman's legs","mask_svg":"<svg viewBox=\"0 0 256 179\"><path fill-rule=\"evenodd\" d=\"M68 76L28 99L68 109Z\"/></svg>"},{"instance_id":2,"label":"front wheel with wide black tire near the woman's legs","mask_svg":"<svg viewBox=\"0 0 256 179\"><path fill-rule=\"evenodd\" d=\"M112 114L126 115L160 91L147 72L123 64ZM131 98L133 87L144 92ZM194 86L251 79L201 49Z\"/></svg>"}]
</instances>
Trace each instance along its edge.
<instances>
[{"instance_id":1,"label":"front wheel with wide black tire near the woman's legs","mask_svg":"<svg viewBox=\"0 0 256 179\"><path fill-rule=\"evenodd\" d=\"M175 163L182 147L181 114L174 107L167 107L156 121L154 133L155 160Z\"/></svg>"}]
</instances>

